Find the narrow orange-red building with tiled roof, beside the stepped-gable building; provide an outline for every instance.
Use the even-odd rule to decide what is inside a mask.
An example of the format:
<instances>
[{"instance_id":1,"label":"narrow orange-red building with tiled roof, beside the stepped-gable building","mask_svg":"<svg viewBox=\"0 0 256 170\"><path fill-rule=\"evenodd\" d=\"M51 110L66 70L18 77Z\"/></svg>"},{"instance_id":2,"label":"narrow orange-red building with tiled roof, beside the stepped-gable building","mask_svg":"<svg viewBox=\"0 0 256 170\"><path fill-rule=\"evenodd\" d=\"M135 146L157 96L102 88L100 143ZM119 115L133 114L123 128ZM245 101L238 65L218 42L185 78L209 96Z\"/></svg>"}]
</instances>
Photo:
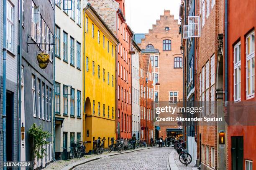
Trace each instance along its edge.
<instances>
[{"instance_id":1,"label":"narrow orange-red building with tiled roof, beside the stepped-gable building","mask_svg":"<svg viewBox=\"0 0 256 170\"><path fill-rule=\"evenodd\" d=\"M153 75L150 62L150 54L140 56L140 107L141 107L141 139L149 144L153 138Z\"/></svg>"}]
</instances>

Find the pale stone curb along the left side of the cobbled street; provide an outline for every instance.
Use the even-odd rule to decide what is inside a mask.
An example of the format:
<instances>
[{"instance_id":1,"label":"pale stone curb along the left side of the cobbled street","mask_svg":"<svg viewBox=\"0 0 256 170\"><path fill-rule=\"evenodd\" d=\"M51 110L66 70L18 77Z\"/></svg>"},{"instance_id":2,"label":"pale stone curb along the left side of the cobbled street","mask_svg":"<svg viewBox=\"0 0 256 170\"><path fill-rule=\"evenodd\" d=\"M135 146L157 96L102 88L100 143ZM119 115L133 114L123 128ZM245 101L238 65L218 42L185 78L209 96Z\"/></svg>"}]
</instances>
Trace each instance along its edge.
<instances>
[{"instance_id":1,"label":"pale stone curb along the left side of the cobbled street","mask_svg":"<svg viewBox=\"0 0 256 170\"><path fill-rule=\"evenodd\" d=\"M85 164L85 163L89 163L89 162L92 162L94 160L98 160L100 158L104 158L104 157L108 157L108 156L114 156L114 155L121 155L121 154L124 154L124 153L131 153L131 152L135 152L135 151L139 151L139 150L144 150L144 149L150 149L150 148L153 148L153 147L147 147L147 148L142 148L142 149L137 149L137 150L130 150L130 151L127 151L127 152L122 152L122 153L114 153L114 154L110 154L110 155L102 155L102 156L99 156L97 158L88 158L87 160L80 160L80 161L77 161L76 163L72 163L72 164L69 164L69 165L66 165L64 168L61 168L61 170L72 170L73 168L79 166L79 165L82 165L82 164Z\"/></svg>"}]
</instances>

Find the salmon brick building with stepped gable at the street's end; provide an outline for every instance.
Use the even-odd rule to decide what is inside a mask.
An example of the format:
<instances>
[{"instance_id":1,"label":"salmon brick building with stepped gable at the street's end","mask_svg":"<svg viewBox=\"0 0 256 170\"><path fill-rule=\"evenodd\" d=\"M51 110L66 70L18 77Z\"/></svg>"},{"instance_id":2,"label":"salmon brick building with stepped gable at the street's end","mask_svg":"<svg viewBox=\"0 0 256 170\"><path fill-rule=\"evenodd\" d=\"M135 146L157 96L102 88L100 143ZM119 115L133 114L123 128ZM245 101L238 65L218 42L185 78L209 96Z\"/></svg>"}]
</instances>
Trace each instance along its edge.
<instances>
[{"instance_id":1,"label":"salmon brick building with stepped gable at the street's end","mask_svg":"<svg viewBox=\"0 0 256 170\"><path fill-rule=\"evenodd\" d=\"M177 101L183 99L183 56L180 51L179 26L178 20L174 20L170 10L164 10L164 15L160 15L160 19L156 20L156 24L153 24L147 34L135 34L138 46L154 53L151 60L153 61L154 107L175 105ZM157 82L160 85L156 85ZM170 115L161 113L161 117L166 116ZM172 117L176 116L172 115ZM178 129L175 121L156 121L155 126L161 128L159 131L155 130L156 138L159 136L165 138L172 133L182 134L182 130Z\"/></svg>"}]
</instances>

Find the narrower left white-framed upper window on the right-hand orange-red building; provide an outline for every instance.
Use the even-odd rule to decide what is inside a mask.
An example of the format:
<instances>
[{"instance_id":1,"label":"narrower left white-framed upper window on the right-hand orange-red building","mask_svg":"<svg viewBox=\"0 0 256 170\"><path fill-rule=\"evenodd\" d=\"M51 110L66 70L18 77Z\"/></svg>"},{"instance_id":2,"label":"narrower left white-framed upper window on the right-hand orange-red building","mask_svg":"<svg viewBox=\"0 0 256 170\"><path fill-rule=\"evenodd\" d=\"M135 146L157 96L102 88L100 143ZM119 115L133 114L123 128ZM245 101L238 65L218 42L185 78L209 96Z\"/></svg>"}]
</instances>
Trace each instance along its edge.
<instances>
[{"instance_id":1,"label":"narrower left white-framed upper window on the right-hand orange-red building","mask_svg":"<svg viewBox=\"0 0 256 170\"><path fill-rule=\"evenodd\" d=\"M241 100L241 42L234 46L234 101Z\"/></svg>"}]
</instances>

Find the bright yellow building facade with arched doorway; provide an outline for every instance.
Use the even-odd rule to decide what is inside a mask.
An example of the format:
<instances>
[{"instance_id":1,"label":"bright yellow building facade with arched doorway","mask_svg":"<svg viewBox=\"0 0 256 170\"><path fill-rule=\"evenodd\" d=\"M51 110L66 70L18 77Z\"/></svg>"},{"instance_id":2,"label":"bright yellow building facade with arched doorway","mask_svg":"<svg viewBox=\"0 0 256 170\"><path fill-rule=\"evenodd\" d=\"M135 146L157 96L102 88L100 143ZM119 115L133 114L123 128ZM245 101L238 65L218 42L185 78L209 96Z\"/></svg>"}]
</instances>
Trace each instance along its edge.
<instances>
[{"instance_id":1,"label":"bright yellow building facade with arched doorway","mask_svg":"<svg viewBox=\"0 0 256 170\"><path fill-rule=\"evenodd\" d=\"M83 137L86 152L93 140L115 138L115 65L118 39L90 4L83 10Z\"/></svg>"}]
</instances>

